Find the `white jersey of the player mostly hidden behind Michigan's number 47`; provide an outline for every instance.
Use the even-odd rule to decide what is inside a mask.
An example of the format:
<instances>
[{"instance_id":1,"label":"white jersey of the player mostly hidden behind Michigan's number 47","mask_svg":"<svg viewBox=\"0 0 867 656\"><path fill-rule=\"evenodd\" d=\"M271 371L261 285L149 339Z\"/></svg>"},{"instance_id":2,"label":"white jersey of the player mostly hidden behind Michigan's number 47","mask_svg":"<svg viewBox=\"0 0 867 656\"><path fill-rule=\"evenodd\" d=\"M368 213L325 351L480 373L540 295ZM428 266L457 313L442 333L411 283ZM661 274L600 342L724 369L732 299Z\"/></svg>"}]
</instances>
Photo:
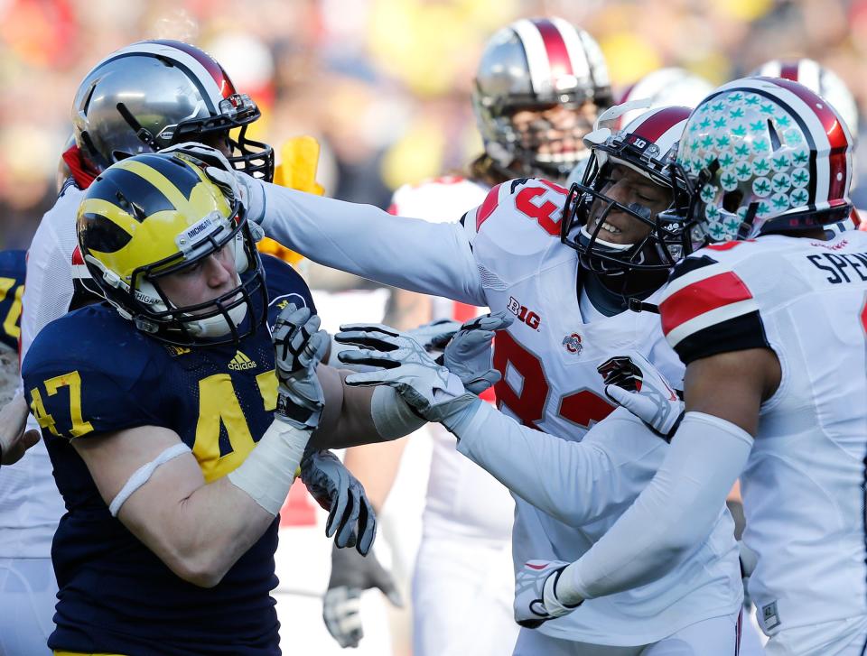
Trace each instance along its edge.
<instances>
[{"instance_id":1,"label":"white jersey of the player mostly hidden behind Michigan's number 47","mask_svg":"<svg viewBox=\"0 0 867 656\"><path fill-rule=\"evenodd\" d=\"M72 255L83 191L71 182L42 217L27 251L21 314L21 361L42 328L66 314L75 295ZM75 345L70 345L74 348ZM28 418L28 428L39 424ZM40 440L0 476L0 558L51 558L51 540L65 512Z\"/></svg>"}]
</instances>

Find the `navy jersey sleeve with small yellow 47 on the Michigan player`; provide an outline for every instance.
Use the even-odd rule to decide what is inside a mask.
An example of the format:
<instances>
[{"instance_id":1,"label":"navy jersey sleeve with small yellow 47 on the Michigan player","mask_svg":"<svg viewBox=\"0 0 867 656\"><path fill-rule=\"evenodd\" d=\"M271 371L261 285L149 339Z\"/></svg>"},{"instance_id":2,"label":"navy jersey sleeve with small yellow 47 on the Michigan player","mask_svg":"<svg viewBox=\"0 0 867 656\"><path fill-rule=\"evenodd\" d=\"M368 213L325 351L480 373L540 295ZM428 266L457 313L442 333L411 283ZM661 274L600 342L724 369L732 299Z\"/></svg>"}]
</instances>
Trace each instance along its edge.
<instances>
[{"instance_id":1,"label":"navy jersey sleeve with small yellow 47 on the Michigan player","mask_svg":"<svg viewBox=\"0 0 867 656\"><path fill-rule=\"evenodd\" d=\"M22 366L24 391L42 434L74 439L138 426L166 426L154 344L94 306L52 321ZM126 328L126 339L106 338ZM102 337L100 337L102 336ZM163 381L164 383L164 381ZM161 411L162 410L162 411Z\"/></svg>"}]
</instances>

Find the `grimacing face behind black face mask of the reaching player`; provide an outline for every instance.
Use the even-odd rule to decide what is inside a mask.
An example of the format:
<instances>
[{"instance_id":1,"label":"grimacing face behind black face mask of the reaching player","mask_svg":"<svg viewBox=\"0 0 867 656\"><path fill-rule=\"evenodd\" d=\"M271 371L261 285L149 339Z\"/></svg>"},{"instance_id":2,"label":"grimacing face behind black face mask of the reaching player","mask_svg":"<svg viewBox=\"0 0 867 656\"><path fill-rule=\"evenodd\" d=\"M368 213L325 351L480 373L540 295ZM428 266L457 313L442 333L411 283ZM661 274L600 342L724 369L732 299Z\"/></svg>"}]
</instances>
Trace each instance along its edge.
<instances>
[{"instance_id":1,"label":"grimacing face behind black face mask of the reaching player","mask_svg":"<svg viewBox=\"0 0 867 656\"><path fill-rule=\"evenodd\" d=\"M649 210L648 217L655 217L671 204L669 189L660 187L638 171L617 163L611 165L600 191L608 198L627 207L633 203L638 204L641 208ZM590 217L587 220L588 232L592 233L596 229L596 224L601 220L605 208L606 203L603 200L593 201ZM639 221L626 212L620 212L617 208L612 208L602 221L599 238L611 244L637 244L648 236L649 232L650 226L647 223Z\"/></svg>"}]
</instances>

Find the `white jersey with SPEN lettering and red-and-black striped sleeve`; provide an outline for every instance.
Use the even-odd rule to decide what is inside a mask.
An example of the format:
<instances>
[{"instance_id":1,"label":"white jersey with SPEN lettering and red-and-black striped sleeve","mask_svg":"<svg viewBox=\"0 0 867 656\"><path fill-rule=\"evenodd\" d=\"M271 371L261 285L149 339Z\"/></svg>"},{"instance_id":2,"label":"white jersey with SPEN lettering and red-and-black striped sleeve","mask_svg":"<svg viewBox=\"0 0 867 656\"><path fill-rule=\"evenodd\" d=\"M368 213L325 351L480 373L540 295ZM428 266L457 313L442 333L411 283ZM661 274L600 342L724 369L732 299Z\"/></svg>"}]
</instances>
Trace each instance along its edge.
<instances>
[{"instance_id":1,"label":"white jersey with SPEN lettering and red-and-black striped sleeve","mask_svg":"<svg viewBox=\"0 0 867 656\"><path fill-rule=\"evenodd\" d=\"M678 264L660 310L686 363L779 359L741 476L765 633L867 614L867 233L710 246Z\"/></svg>"}]
</instances>

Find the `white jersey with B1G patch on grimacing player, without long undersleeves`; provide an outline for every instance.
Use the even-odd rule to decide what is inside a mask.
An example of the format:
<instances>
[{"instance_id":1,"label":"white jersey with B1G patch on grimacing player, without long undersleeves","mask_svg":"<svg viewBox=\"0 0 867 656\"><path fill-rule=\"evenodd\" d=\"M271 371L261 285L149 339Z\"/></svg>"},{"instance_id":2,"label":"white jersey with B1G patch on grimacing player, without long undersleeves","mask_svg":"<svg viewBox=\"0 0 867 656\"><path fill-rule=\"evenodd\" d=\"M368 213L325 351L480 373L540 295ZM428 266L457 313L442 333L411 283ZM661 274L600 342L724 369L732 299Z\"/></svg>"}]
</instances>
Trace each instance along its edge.
<instances>
[{"instance_id":1,"label":"white jersey with B1G patch on grimacing player, without long undersleeves","mask_svg":"<svg viewBox=\"0 0 867 656\"><path fill-rule=\"evenodd\" d=\"M515 185L517 193L512 193L512 185L492 190L464 221L490 309L510 310L516 317L495 341L494 364L503 374L496 387L499 408L527 426L579 441L614 410L596 371L608 357L638 350L677 386L683 365L667 346L654 313L583 316L577 253L560 241L565 189L531 180ZM648 302L655 302L658 293ZM516 569L530 559L571 562L601 538L662 462L664 445L651 440L648 447L645 432L638 427L638 439L618 439L610 430L592 433L621 462L623 475L616 482L600 481L620 486L621 503L601 509L595 521L568 526L516 497ZM568 486L566 481L562 494L569 494ZM732 531L731 519L721 513L709 540L683 566L647 586L586 601L539 631L574 641L639 644L713 616L708 611L732 612L739 604L735 584L740 585Z\"/></svg>"}]
</instances>

